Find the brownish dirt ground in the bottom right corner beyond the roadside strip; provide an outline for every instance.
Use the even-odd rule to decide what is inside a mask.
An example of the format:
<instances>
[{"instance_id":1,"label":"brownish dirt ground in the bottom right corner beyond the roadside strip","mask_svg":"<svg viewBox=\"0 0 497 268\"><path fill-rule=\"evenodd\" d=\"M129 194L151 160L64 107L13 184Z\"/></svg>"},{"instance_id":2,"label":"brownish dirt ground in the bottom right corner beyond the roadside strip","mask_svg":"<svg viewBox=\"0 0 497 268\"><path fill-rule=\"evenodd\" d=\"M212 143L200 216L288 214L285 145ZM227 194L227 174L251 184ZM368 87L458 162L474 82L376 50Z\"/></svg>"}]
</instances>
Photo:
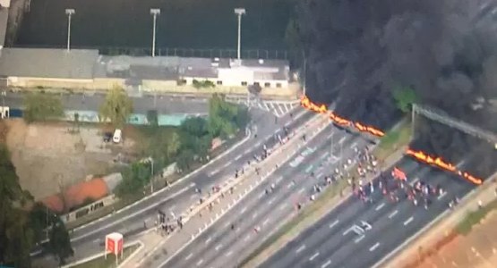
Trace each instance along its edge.
<instances>
[{"instance_id":1,"label":"brownish dirt ground in the bottom right corner beyond the roadside strip","mask_svg":"<svg viewBox=\"0 0 497 268\"><path fill-rule=\"evenodd\" d=\"M409 267L497 267L495 226L497 226L497 213L493 212L480 224L474 226L467 236L453 236L441 247L430 250L429 255L420 249L419 259L422 261Z\"/></svg>"}]
</instances>

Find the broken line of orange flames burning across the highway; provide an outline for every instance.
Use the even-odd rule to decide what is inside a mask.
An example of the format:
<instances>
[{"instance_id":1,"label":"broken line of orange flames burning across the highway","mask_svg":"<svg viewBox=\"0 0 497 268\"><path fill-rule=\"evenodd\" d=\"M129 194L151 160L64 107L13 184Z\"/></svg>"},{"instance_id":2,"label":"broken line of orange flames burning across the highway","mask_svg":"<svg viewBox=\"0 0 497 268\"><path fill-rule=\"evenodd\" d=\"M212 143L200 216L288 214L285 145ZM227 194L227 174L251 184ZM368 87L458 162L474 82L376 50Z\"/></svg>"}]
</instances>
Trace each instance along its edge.
<instances>
[{"instance_id":1,"label":"broken line of orange flames burning across the highway","mask_svg":"<svg viewBox=\"0 0 497 268\"><path fill-rule=\"evenodd\" d=\"M383 131L378 130L376 128L373 128L371 126L364 125L363 123L360 123L360 122L348 121L347 119L338 116L337 113L329 111L328 108L326 107L326 105L314 104L307 96L302 96L302 98L300 100L300 104L305 109L312 111L314 113L321 113L321 114L328 113L328 115L330 116L330 119L340 126L354 127L359 131L368 132L368 133L371 133L377 137L383 137L385 135L385 133ZM459 171L455 165L453 165L452 163L446 162L440 156L434 157L431 155L427 155L422 151L415 151L415 150L412 150L410 148L407 149L406 155L413 156L417 160L419 160L423 163L428 163L428 164L437 166L437 167L441 168L442 170L458 174L459 176L463 177L466 180L469 180L472 183L475 183L476 185L480 185L483 182L482 179L476 178L475 176L469 174L468 172Z\"/></svg>"}]
</instances>

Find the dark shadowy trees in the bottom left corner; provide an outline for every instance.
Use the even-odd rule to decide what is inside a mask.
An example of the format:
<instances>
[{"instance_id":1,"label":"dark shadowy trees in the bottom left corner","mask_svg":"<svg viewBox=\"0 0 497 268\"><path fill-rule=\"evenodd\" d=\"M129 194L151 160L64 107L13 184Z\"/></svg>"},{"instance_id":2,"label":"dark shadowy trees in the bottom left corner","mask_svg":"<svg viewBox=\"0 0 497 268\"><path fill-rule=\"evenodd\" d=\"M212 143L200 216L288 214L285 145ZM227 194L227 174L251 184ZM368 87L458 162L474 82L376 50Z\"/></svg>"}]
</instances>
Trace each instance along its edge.
<instances>
[{"instance_id":1,"label":"dark shadowy trees in the bottom left corner","mask_svg":"<svg viewBox=\"0 0 497 268\"><path fill-rule=\"evenodd\" d=\"M73 255L64 222L22 190L7 147L0 144L0 266L30 267L30 252L43 239L60 264ZM47 231L47 233L46 233Z\"/></svg>"}]
</instances>

